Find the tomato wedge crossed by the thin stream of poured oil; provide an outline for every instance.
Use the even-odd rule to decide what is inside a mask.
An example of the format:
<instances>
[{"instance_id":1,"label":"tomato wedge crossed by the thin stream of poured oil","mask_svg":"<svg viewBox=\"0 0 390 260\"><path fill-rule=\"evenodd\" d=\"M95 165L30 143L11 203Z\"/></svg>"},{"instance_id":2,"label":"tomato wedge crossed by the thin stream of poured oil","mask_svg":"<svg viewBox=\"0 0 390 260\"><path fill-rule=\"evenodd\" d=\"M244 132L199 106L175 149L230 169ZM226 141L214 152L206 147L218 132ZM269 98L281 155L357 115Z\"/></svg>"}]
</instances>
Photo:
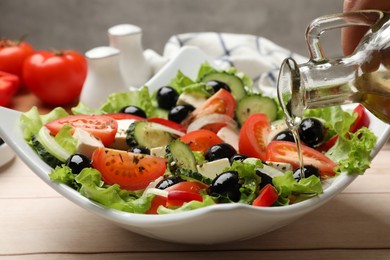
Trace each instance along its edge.
<instances>
[{"instance_id":1,"label":"tomato wedge crossed by the thin stream of poured oil","mask_svg":"<svg viewBox=\"0 0 390 260\"><path fill-rule=\"evenodd\" d=\"M323 153L302 145L303 163L317 167L321 175L335 175L336 163ZM299 167L297 146L288 141L271 141L267 146L266 160L271 162L290 163L294 168Z\"/></svg>"}]
</instances>

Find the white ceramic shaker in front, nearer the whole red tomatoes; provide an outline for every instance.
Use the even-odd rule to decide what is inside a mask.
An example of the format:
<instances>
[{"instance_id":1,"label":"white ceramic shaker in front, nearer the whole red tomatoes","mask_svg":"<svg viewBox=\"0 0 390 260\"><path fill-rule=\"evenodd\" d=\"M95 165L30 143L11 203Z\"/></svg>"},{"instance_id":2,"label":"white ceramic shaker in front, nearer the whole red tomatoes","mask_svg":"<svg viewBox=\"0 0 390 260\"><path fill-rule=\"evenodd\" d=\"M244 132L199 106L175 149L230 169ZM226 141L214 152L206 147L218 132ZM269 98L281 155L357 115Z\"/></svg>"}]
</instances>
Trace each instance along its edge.
<instances>
[{"instance_id":1,"label":"white ceramic shaker in front, nearer the whole red tomatoes","mask_svg":"<svg viewBox=\"0 0 390 260\"><path fill-rule=\"evenodd\" d=\"M120 70L119 54L118 49L108 46L85 53L88 73L80 95L83 104L99 108L111 93L128 91Z\"/></svg>"}]
</instances>

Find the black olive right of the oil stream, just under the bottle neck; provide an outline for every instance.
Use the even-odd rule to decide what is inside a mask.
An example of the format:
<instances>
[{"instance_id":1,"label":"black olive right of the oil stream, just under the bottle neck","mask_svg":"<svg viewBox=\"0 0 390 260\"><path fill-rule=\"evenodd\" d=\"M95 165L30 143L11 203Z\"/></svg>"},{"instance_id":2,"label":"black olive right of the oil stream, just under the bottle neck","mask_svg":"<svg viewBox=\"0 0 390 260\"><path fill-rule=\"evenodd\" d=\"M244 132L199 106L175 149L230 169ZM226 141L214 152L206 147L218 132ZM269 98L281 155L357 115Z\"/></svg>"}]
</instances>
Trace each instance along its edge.
<instances>
[{"instance_id":1,"label":"black olive right of the oil stream, just under the bottle neck","mask_svg":"<svg viewBox=\"0 0 390 260\"><path fill-rule=\"evenodd\" d=\"M324 140L325 127L316 118L305 118L299 124L298 134L302 142L314 147Z\"/></svg>"}]
</instances>

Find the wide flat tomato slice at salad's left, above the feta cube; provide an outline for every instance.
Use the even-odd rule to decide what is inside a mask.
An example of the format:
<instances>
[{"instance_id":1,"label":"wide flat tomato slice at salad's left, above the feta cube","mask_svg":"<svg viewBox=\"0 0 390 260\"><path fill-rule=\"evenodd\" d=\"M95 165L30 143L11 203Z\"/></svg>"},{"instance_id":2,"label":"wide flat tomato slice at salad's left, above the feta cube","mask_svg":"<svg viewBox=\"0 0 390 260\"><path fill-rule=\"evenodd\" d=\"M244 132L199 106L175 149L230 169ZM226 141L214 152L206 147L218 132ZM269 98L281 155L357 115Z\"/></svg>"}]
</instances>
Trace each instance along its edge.
<instances>
[{"instance_id":1,"label":"wide flat tomato slice at salad's left, above the feta cube","mask_svg":"<svg viewBox=\"0 0 390 260\"><path fill-rule=\"evenodd\" d=\"M45 126L56 135L64 125L81 128L99 138L105 146L114 142L118 130L115 119L104 115L70 115L47 123Z\"/></svg>"}]
</instances>

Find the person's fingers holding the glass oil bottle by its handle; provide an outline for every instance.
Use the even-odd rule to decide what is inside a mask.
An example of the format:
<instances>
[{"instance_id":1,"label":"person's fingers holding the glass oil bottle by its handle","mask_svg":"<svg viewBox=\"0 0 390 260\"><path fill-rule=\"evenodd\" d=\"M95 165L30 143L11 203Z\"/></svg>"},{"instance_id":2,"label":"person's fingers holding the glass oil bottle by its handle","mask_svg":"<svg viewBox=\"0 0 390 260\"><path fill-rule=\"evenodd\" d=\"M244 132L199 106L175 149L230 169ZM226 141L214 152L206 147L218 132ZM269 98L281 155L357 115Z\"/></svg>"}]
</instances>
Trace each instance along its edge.
<instances>
[{"instance_id":1,"label":"person's fingers holding the glass oil bottle by its handle","mask_svg":"<svg viewBox=\"0 0 390 260\"><path fill-rule=\"evenodd\" d=\"M344 12L376 9L390 11L388 0L344 0ZM366 26L352 26L342 29L341 43L345 55L351 54L359 44L363 35L367 32Z\"/></svg>"}]
</instances>

